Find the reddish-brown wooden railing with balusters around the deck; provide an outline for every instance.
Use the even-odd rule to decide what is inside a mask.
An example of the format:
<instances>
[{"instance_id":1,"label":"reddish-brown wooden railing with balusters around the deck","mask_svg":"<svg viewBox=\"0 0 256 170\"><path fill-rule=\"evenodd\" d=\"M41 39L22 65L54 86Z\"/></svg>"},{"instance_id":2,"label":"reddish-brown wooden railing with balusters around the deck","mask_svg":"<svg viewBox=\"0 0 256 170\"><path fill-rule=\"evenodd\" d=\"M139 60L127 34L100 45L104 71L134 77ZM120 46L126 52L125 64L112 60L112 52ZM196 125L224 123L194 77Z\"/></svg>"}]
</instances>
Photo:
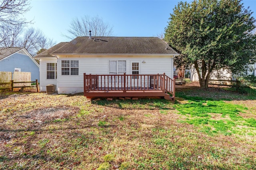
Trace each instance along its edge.
<instances>
[{"instance_id":1,"label":"reddish-brown wooden railing with balusters around the deck","mask_svg":"<svg viewBox=\"0 0 256 170\"><path fill-rule=\"evenodd\" d=\"M84 93L97 91L149 91L161 90L175 97L175 79L164 74L86 74Z\"/></svg>"}]
</instances>

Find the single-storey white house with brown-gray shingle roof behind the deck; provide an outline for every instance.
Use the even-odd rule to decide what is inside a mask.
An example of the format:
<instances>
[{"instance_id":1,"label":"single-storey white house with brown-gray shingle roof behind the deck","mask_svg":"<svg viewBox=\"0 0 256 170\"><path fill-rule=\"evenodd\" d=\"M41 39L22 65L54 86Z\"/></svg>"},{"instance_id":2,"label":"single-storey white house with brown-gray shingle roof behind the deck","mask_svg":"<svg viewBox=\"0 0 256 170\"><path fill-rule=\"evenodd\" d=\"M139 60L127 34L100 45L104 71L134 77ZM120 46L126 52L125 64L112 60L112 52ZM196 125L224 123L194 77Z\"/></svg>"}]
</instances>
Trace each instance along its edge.
<instances>
[{"instance_id":1,"label":"single-storey white house with brown-gray shingle roof behind the deck","mask_svg":"<svg viewBox=\"0 0 256 170\"><path fill-rule=\"evenodd\" d=\"M163 74L173 77L179 55L158 37L77 37L37 55L40 90L56 85L58 94L84 92L83 74Z\"/></svg>"}]
</instances>

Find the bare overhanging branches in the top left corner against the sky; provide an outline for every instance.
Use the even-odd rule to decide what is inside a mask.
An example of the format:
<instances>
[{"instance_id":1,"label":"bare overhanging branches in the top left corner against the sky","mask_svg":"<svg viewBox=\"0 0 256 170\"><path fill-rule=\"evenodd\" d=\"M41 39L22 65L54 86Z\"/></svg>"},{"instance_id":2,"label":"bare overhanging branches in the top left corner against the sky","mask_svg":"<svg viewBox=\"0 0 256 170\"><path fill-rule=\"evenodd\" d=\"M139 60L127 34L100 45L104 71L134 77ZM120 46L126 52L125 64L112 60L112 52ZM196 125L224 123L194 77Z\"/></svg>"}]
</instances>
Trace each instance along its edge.
<instances>
[{"instance_id":1,"label":"bare overhanging branches in the top left corner against the sky","mask_svg":"<svg viewBox=\"0 0 256 170\"><path fill-rule=\"evenodd\" d=\"M25 23L25 18L20 15L30 10L28 0L1 0L0 2L0 23L1 25Z\"/></svg>"}]
</instances>

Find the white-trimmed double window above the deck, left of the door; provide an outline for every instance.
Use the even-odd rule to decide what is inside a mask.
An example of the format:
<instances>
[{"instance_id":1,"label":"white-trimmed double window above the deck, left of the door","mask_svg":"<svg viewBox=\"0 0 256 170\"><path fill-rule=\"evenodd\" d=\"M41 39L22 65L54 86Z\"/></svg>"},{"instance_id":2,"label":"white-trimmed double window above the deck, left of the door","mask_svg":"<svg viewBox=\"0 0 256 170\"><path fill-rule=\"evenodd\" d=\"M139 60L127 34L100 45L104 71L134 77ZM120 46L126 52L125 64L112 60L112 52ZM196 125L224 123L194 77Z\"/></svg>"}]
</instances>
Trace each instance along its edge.
<instances>
[{"instance_id":1,"label":"white-trimmed double window above the deck, left of the door","mask_svg":"<svg viewBox=\"0 0 256 170\"><path fill-rule=\"evenodd\" d=\"M109 61L109 74L119 74L123 75L126 73L126 61L122 60L110 60ZM121 82L121 77L119 78L119 82ZM111 82L111 80L109 80ZM114 82L114 80L112 80ZM116 77L117 82L117 77Z\"/></svg>"}]
</instances>

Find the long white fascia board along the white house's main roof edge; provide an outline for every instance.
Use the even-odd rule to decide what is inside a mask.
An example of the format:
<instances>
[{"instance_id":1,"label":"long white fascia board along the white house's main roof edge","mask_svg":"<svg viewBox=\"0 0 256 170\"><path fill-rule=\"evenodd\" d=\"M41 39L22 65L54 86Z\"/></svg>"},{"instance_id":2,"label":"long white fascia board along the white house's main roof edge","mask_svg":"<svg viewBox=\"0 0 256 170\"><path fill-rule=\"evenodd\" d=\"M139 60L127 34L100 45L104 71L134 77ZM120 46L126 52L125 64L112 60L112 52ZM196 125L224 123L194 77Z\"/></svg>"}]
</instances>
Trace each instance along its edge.
<instances>
[{"instance_id":1,"label":"long white fascia board along the white house's main roof edge","mask_svg":"<svg viewBox=\"0 0 256 170\"><path fill-rule=\"evenodd\" d=\"M118 53L118 54L116 54L116 53L114 53L114 54L105 54L105 53L96 53L96 54L85 54L85 53L59 53L59 54L56 54L56 53L54 53L54 54L50 54L50 55L111 55L111 56L113 56L113 55L124 55L124 56L131 56L131 55L138 55L138 56L154 56L154 55L160 55L160 56L178 56L178 55L180 55L180 54L178 54L178 53L176 53L176 54L122 54L122 53Z\"/></svg>"}]
</instances>

